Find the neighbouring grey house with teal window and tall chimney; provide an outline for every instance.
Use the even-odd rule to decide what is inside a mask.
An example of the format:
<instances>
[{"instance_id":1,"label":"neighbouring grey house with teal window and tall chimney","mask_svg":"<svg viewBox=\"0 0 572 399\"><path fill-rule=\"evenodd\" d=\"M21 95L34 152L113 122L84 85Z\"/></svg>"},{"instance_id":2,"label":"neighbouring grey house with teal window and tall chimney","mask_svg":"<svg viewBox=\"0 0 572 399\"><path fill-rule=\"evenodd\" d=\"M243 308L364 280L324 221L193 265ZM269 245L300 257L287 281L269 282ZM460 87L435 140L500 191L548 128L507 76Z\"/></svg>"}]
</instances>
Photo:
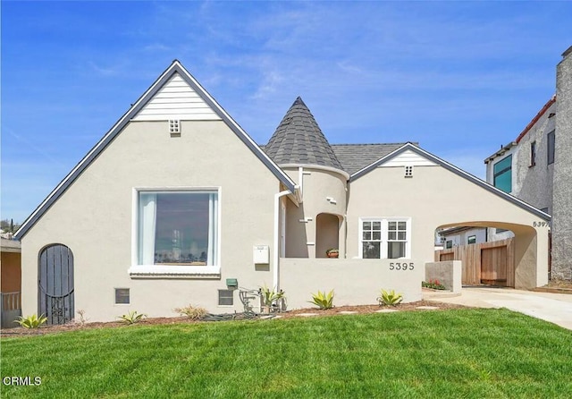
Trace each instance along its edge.
<instances>
[{"instance_id":1,"label":"neighbouring grey house with teal window and tall chimney","mask_svg":"<svg viewBox=\"0 0 572 399\"><path fill-rule=\"evenodd\" d=\"M486 180L551 214L551 277L572 279L572 47L562 55L556 95L516 140L484 160ZM506 230L490 229L492 240Z\"/></svg>"}]
</instances>

